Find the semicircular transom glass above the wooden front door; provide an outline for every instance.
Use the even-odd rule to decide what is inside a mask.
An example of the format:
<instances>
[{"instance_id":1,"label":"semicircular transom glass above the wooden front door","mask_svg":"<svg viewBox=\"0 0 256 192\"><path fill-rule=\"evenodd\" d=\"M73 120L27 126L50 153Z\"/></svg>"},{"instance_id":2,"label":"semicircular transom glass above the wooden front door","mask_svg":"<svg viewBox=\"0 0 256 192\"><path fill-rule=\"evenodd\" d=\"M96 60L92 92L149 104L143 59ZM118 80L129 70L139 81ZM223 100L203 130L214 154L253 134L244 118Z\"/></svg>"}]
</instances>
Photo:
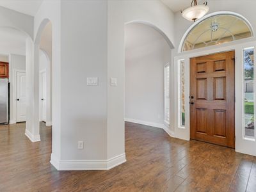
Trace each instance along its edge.
<instances>
[{"instance_id":1,"label":"semicircular transom glass above the wooden front door","mask_svg":"<svg viewBox=\"0 0 256 192\"><path fill-rule=\"evenodd\" d=\"M186 36L182 51L220 45L252 36L247 22L236 15L214 15L198 23Z\"/></svg>"}]
</instances>

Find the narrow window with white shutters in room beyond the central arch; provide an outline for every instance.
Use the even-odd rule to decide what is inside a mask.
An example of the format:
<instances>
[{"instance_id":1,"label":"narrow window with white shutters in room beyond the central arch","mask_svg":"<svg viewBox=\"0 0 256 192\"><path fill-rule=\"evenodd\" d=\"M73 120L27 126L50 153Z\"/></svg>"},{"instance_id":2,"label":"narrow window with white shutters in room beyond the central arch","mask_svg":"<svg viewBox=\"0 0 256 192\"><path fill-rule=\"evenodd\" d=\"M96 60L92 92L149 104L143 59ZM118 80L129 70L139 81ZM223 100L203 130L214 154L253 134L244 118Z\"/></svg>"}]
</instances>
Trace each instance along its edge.
<instances>
[{"instance_id":1,"label":"narrow window with white shutters in room beyond the central arch","mask_svg":"<svg viewBox=\"0 0 256 192\"><path fill-rule=\"evenodd\" d=\"M170 123L170 65L164 67L164 120Z\"/></svg>"}]
</instances>

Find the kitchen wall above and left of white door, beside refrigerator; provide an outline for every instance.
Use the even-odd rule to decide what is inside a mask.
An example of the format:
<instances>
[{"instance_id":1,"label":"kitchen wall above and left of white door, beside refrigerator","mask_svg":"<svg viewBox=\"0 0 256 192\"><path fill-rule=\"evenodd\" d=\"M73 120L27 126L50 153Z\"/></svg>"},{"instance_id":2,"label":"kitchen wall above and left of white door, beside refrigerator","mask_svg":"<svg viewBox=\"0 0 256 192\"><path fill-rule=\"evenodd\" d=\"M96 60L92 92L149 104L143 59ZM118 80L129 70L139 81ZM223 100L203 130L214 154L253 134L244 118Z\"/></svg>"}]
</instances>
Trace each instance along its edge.
<instances>
[{"instance_id":1,"label":"kitchen wall above and left of white door, beside refrigerator","mask_svg":"<svg viewBox=\"0 0 256 192\"><path fill-rule=\"evenodd\" d=\"M16 82L15 70L26 70L26 56L18 54L9 55L9 82L10 82L10 124L16 123Z\"/></svg>"}]
</instances>

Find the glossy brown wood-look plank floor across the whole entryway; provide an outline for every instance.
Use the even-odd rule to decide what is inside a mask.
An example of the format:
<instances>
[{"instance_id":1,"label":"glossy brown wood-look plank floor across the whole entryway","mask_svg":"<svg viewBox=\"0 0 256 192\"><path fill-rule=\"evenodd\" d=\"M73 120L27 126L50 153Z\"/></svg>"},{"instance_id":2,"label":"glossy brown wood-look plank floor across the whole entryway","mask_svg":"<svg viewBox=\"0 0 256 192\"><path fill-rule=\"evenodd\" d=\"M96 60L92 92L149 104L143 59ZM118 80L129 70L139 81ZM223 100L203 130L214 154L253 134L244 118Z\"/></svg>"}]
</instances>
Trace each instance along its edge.
<instances>
[{"instance_id":1,"label":"glossy brown wood-look plank floor across the whole entryway","mask_svg":"<svg viewBox=\"0 0 256 192\"><path fill-rule=\"evenodd\" d=\"M0 126L0 191L256 191L256 157L231 148L170 138L125 123L127 162L109 171L58 172L51 127L31 143L25 124Z\"/></svg>"}]
</instances>

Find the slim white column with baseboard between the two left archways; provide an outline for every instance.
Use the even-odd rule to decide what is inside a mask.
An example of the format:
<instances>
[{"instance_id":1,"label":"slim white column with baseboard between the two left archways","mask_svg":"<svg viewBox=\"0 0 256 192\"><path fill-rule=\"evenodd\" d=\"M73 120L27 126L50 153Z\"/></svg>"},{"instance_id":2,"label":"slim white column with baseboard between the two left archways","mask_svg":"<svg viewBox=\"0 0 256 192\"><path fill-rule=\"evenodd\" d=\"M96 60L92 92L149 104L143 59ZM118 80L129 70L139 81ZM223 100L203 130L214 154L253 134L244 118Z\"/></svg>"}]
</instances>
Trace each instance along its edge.
<instances>
[{"instance_id":1,"label":"slim white column with baseboard between the two left archways","mask_svg":"<svg viewBox=\"0 0 256 192\"><path fill-rule=\"evenodd\" d=\"M26 136L40 141L39 133L39 46L26 39Z\"/></svg>"}]
</instances>

